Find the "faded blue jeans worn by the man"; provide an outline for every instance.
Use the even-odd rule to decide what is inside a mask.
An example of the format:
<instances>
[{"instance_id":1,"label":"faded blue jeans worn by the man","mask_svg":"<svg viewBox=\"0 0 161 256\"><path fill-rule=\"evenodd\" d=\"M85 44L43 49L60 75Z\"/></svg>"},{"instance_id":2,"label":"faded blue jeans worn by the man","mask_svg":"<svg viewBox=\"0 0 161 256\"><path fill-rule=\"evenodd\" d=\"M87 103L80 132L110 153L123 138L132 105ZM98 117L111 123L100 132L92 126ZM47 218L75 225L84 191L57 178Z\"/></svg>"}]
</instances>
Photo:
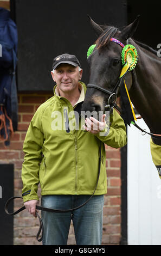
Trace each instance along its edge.
<instances>
[{"instance_id":1,"label":"faded blue jeans worn by the man","mask_svg":"<svg viewBox=\"0 0 161 256\"><path fill-rule=\"evenodd\" d=\"M90 196L42 196L41 205L53 209L72 209ZM67 245L70 222L73 221L76 245L101 245L104 195L93 196L80 209L66 212L42 211L43 245Z\"/></svg>"}]
</instances>

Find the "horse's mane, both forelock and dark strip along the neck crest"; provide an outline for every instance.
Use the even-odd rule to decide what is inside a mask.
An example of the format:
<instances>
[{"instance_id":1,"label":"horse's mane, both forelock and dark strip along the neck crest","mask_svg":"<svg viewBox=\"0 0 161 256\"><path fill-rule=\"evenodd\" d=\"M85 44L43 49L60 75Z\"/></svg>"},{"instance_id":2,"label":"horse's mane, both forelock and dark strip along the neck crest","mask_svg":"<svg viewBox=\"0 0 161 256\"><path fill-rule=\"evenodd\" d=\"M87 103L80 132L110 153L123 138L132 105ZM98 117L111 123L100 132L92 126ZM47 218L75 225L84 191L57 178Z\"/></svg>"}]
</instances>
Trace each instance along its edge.
<instances>
[{"instance_id":1,"label":"horse's mane, both forelock and dark strip along the neck crest","mask_svg":"<svg viewBox=\"0 0 161 256\"><path fill-rule=\"evenodd\" d=\"M104 33L102 33L99 38L96 40L95 44L97 46L97 48L102 48L105 47L109 42L110 39L114 37L114 35L117 33L117 31L122 30L115 28L113 26L101 26L104 29ZM136 42L136 44L138 44L139 46L143 47L144 49L146 49L147 51L152 52L153 54L157 55L157 51L154 50L153 48L151 48L150 46L143 44L143 42L139 42L137 40L132 39L134 42Z\"/></svg>"}]
</instances>

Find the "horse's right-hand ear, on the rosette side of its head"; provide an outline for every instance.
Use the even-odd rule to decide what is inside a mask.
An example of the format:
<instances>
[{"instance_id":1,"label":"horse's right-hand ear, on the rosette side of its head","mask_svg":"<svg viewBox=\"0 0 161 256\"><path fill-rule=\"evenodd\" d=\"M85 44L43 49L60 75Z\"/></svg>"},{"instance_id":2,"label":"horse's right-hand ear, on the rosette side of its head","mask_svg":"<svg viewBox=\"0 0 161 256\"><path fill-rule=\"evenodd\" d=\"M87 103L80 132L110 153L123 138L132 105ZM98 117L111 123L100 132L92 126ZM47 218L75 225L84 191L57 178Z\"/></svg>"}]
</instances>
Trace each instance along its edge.
<instances>
[{"instance_id":1,"label":"horse's right-hand ear, on the rosette side of its head","mask_svg":"<svg viewBox=\"0 0 161 256\"><path fill-rule=\"evenodd\" d=\"M139 24L139 17L140 15L137 16L137 18L128 26L126 26L123 31L121 32L121 37L125 40L133 36L133 34L136 32L136 29Z\"/></svg>"}]
</instances>

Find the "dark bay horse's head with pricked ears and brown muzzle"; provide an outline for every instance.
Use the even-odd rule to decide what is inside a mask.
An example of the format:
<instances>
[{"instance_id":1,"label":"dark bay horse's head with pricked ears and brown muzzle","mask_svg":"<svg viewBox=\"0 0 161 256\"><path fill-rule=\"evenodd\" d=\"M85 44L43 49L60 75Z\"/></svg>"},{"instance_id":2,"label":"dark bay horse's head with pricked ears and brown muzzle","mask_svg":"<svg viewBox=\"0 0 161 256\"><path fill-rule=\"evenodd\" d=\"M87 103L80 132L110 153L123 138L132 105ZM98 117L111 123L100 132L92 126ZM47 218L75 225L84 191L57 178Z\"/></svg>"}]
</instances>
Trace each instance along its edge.
<instances>
[{"instance_id":1,"label":"dark bay horse's head with pricked ears and brown muzzle","mask_svg":"<svg viewBox=\"0 0 161 256\"><path fill-rule=\"evenodd\" d=\"M139 16L133 23L123 29L118 29L110 26L100 26L89 17L98 39L95 42L94 50L92 49L93 51L87 59L90 65L90 77L82 111L105 111L107 102L111 104L112 101L115 101L115 94L112 96L111 94L119 94L117 87L123 67L121 63L123 47L115 44L111 41L111 38L115 38L126 45L127 39L136 31L138 18Z\"/></svg>"}]
</instances>

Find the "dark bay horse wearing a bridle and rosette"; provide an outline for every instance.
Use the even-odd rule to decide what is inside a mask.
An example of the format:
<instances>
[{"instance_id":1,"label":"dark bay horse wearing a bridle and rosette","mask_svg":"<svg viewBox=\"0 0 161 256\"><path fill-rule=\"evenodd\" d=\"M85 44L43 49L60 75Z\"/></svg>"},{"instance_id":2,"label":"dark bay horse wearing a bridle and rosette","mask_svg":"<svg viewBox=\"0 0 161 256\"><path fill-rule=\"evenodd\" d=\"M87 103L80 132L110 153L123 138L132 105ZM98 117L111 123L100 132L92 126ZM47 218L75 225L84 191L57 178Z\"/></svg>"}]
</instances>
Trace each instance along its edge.
<instances>
[{"instance_id":1,"label":"dark bay horse wearing a bridle and rosette","mask_svg":"<svg viewBox=\"0 0 161 256\"><path fill-rule=\"evenodd\" d=\"M128 71L124 76L128 93L134 107L144 119L150 132L160 135L161 59L157 56L157 51L131 38L137 29L139 16L130 25L121 29L98 25L91 17L89 17L89 21L98 36L94 51L87 60L90 65L89 84L95 84L112 92L123 68L121 64L123 47L111 41L111 38L117 39L123 45L133 45L138 52L138 61L133 72ZM87 85L82 110L104 111L108 98L109 94ZM159 143L161 145L161 141Z\"/></svg>"}]
</instances>

